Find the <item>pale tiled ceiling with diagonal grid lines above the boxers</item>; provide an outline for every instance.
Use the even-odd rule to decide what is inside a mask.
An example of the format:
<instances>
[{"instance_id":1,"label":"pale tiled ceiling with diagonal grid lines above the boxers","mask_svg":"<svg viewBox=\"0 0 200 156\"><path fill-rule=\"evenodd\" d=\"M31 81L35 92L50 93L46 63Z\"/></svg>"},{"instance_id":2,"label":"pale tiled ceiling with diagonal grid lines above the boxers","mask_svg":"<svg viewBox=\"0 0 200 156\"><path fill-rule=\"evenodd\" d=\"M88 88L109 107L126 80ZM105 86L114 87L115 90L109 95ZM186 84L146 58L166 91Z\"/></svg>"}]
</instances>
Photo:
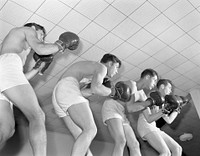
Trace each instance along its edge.
<instances>
[{"instance_id":1,"label":"pale tiled ceiling with diagonal grid lines above the boxers","mask_svg":"<svg viewBox=\"0 0 200 156\"><path fill-rule=\"evenodd\" d=\"M105 53L122 60L115 79L137 80L153 68L173 81L178 95L200 85L199 0L1 0L0 42L27 22L43 25L47 42L64 31L81 39L76 51L57 54L46 73L31 80L44 105L70 64L99 61ZM33 64L30 57L25 70Z\"/></svg>"}]
</instances>

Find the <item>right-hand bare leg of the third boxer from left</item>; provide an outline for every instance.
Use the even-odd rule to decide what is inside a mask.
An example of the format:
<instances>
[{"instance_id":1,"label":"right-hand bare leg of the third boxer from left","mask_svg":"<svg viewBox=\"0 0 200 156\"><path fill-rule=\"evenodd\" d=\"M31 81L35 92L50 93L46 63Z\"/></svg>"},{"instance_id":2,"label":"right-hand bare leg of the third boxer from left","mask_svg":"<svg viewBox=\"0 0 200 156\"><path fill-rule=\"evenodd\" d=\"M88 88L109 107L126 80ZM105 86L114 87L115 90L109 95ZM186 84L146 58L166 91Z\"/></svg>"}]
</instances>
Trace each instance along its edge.
<instances>
[{"instance_id":1,"label":"right-hand bare leg of the third boxer from left","mask_svg":"<svg viewBox=\"0 0 200 156\"><path fill-rule=\"evenodd\" d=\"M124 132L126 136L127 145L130 150L130 156L141 156L140 144L135 136L132 127L129 124L124 125Z\"/></svg>"}]
</instances>

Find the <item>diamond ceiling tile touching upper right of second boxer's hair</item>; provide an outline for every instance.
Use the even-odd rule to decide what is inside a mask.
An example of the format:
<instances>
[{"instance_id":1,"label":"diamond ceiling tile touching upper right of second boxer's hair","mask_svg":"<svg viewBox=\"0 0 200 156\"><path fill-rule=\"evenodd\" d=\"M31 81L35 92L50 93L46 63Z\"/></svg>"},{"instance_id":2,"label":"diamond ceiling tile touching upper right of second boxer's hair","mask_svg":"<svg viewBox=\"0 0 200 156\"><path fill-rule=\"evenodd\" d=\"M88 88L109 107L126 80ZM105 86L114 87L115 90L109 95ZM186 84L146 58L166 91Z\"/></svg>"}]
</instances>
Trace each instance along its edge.
<instances>
[{"instance_id":1,"label":"diamond ceiling tile touching upper right of second boxer's hair","mask_svg":"<svg viewBox=\"0 0 200 156\"><path fill-rule=\"evenodd\" d=\"M112 51L112 54L125 59L132 53L134 53L137 49L130 45L127 42L122 43L120 46L118 46L116 49Z\"/></svg>"}]
</instances>

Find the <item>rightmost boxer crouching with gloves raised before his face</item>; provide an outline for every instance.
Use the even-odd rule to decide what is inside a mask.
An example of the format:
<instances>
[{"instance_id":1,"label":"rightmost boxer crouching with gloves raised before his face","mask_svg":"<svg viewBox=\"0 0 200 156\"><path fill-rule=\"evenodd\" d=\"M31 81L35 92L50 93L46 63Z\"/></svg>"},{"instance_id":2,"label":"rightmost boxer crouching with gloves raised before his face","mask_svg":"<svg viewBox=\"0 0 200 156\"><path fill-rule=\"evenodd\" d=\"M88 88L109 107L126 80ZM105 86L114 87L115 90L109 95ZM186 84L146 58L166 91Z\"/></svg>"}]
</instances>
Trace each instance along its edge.
<instances>
[{"instance_id":1,"label":"rightmost boxer crouching with gloves raised before his face","mask_svg":"<svg viewBox=\"0 0 200 156\"><path fill-rule=\"evenodd\" d=\"M155 122L159 118L163 118L170 124L180 111L184 98L170 95L172 94L172 87L173 85L170 80L160 79L157 83L157 89L164 100L163 104L160 106L155 104L150 105L143 110L138 118L137 130L139 135L143 140L148 141L160 156L182 155L182 147L172 137L157 128Z\"/></svg>"}]
</instances>

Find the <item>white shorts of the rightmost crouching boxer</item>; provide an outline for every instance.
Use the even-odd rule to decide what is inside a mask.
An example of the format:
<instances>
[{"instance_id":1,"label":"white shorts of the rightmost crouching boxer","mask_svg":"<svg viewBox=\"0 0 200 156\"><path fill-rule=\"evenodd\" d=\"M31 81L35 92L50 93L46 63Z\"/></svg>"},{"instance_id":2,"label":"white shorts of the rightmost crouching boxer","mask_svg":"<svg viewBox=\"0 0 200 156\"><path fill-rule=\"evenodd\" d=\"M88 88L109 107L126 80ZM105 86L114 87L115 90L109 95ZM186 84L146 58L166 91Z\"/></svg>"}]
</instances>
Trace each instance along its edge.
<instances>
[{"instance_id":1,"label":"white shorts of the rightmost crouching boxer","mask_svg":"<svg viewBox=\"0 0 200 156\"><path fill-rule=\"evenodd\" d=\"M148 123L142 113L139 115L139 118L138 118L137 131L143 140L146 140L144 136L149 134L150 132L161 133L161 130L158 127L156 127L156 122L154 121L154 122Z\"/></svg>"}]
</instances>

